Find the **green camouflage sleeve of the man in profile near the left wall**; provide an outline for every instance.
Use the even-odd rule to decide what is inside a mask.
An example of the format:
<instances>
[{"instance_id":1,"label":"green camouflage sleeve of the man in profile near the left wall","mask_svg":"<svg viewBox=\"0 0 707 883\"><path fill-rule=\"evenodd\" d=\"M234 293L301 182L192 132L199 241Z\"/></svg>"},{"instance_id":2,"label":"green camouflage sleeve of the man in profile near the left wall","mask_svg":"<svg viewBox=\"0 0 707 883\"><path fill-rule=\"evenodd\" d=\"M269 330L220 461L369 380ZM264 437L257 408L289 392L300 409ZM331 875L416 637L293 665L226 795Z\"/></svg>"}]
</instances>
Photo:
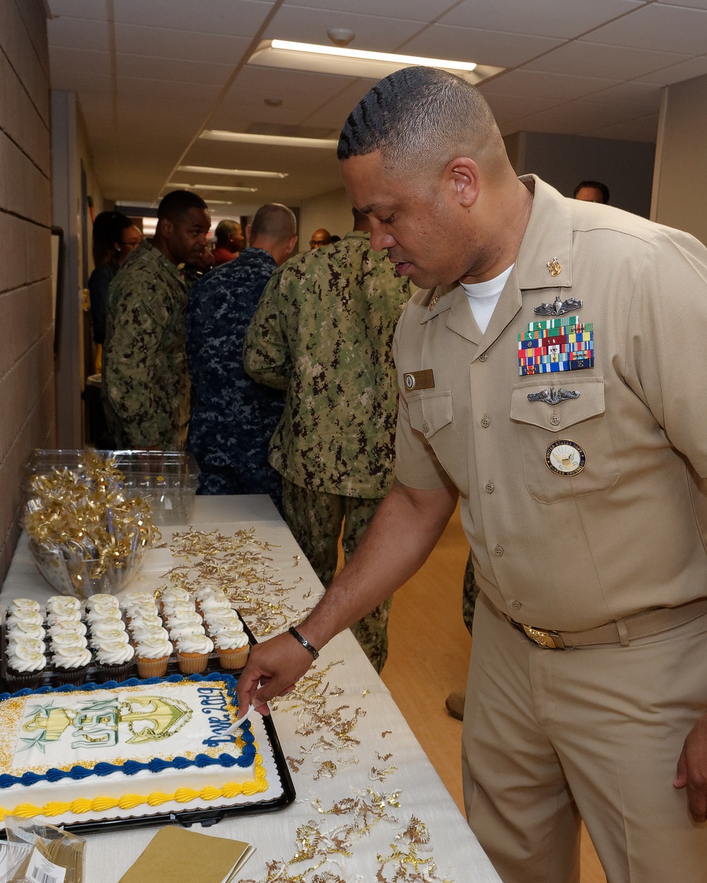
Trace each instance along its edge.
<instances>
[{"instance_id":1,"label":"green camouflage sleeve of the man in profile near the left wall","mask_svg":"<svg viewBox=\"0 0 707 883\"><path fill-rule=\"evenodd\" d=\"M131 443L149 448L160 443L153 377L167 311L148 283L111 285L109 298L113 333L103 382Z\"/></svg>"}]
</instances>

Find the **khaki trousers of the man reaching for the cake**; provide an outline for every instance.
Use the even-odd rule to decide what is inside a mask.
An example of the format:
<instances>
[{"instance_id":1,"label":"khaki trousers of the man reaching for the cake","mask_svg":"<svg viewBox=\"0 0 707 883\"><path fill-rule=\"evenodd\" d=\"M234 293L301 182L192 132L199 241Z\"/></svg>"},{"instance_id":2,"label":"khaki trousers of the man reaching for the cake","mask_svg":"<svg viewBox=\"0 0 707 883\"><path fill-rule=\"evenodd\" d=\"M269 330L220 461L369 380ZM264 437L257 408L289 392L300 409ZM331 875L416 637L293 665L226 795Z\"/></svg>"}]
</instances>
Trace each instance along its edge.
<instances>
[{"instance_id":1,"label":"khaki trousers of the man reaching for the cake","mask_svg":"<svg viewBox=\"0 0 707 883\"><path fill-rule=\"evenodd\" d=\"M673 788L705 709L707 616L627 647L553 651L482 592L462 775L469 826L504 883L576 883L580 818L608 883L705 883L707 826Z\"/></svg>"}]
</instances>

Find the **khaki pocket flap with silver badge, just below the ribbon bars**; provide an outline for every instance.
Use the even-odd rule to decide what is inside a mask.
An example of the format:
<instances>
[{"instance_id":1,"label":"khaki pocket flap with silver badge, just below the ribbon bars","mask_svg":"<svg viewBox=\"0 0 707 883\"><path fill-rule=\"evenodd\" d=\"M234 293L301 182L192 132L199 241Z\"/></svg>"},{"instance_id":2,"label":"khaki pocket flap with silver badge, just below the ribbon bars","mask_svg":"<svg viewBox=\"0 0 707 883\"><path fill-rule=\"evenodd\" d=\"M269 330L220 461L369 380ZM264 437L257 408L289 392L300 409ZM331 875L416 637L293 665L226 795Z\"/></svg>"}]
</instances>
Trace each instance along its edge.
<instances>
[{"instance_id":1,"label":"khaki pocket flap with silver badge, just below the ribbon bars","mask_svg":"<svg viewBox=\"0 0 707 883\"><path fill-rule=\"evenodd\" d=\"M528 399L528 396L544 397ZM604 411L603 377L567 378L562 387L550 386L547 382L519 383L513 387L511 419L549 432L559 432L567 426L604 414Z\"/></svg>"}]
</instances>

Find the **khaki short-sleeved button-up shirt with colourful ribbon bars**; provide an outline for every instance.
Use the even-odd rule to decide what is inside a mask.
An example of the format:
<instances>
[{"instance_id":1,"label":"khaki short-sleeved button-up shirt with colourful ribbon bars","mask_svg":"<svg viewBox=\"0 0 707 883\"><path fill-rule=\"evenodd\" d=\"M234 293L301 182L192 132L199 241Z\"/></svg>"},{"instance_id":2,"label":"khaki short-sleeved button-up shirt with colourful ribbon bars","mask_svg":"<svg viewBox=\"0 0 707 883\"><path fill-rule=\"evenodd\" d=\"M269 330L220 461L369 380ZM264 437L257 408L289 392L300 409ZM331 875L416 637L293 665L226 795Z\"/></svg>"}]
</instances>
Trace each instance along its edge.
<instances>
[{"instance_id":1,"label":"khaki short-sleeved button-up shirt with colourful ribbon bars","mask_svg":"<svg viewBox=\"0 0 707 883\"><path fill-rule=\"evenodd\" d=\"M702 597L707 249L523 181L532 214L485 333L460 286L418 292L399 323L397 476L459 487L476 579L523 623L589 629ZM520 376L519 335L558 295L582 300L570 313L593 324L595 365ZM559 388L579 395L528 400ZM558 441L581 449L581 472L551 471Z\"/></svg>"}]
</instances>

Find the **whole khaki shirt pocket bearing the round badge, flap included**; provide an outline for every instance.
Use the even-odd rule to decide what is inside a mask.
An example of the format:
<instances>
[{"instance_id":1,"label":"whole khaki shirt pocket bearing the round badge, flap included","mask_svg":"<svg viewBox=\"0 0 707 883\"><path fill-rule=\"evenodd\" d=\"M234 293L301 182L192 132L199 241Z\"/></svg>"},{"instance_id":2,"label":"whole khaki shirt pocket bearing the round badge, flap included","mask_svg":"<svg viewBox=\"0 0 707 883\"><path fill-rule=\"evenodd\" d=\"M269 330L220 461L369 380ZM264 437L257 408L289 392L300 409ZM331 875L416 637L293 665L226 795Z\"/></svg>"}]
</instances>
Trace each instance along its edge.
<instances>
[{"instance_id":1,"label":"whole khaki shirt pocket bearing the round badge, flap included","mask_svg":"<svg viewBox=\"0 0 707 883\"><path fill-rule=\"evenodd\" d=\"M608 490L619 480L619 464L604 402L604 378L562 378L518 383L513 387L511 419L518 427L523 472L528 492L539 502L561 502ZM543 390L566 389L579 396L558 404L529 401ZM575 475L559 475L548 466L553 442L567 441L582 449L584 467Z\"/></svg>"}]
</instances>

